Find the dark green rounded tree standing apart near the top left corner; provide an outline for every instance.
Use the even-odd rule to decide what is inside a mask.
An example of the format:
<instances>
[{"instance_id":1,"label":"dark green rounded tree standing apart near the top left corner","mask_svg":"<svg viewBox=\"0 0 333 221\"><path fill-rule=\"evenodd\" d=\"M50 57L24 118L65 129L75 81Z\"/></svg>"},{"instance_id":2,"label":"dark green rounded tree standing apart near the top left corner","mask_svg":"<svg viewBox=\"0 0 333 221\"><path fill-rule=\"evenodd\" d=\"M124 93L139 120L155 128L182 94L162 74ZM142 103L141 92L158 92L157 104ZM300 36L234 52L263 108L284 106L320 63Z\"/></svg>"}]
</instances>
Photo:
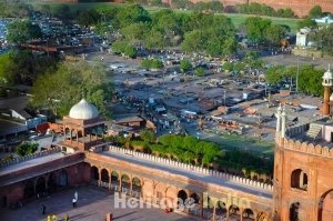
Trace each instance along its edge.
<instances>
[{"instance_id":1,"label":"dark green rounded tree standing apart near the top left corner","mask_svg":"<svg viewBox=\"0 0 333 221\"><path fill-rule=\"evenodd\" d=\"M42 32L38 24L30 21L13 21L8 27L7 39L11 43L21 44L32 39L41 38Z\"/></svg>"}]
</instances>

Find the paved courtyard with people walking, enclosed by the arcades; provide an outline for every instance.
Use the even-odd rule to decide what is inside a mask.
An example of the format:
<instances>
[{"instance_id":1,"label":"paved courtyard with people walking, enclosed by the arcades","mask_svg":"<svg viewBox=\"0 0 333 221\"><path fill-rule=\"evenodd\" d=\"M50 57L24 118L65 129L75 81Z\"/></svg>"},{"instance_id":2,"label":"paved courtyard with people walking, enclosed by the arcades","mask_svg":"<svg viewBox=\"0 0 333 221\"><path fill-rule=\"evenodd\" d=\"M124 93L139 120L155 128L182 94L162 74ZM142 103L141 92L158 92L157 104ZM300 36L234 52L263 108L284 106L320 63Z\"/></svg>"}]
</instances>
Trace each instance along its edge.
<instances>
[{"instance_id":1,"label":"paved courtyard with people walking, enclosed by the arcades","mask_svg":"<svg viewBox=\"0 0 333 221\"><path fill-rule=\"evenodd\" d=\"M71 200L78 190L78 207L72 208ZM65 213L70 221L104 221L108 212L113 213L117 221L194 221L198 219L180 215L176 213L164 213L160 209L114 209L114 195L107 191L83 187L67 190L49 198L34 200L18 210L0 210L2 221L46 221L47 215L41 214L41 205L47 207L47 214L56 213L58 221L63 220Z\"/></svg>"}]
</instances>

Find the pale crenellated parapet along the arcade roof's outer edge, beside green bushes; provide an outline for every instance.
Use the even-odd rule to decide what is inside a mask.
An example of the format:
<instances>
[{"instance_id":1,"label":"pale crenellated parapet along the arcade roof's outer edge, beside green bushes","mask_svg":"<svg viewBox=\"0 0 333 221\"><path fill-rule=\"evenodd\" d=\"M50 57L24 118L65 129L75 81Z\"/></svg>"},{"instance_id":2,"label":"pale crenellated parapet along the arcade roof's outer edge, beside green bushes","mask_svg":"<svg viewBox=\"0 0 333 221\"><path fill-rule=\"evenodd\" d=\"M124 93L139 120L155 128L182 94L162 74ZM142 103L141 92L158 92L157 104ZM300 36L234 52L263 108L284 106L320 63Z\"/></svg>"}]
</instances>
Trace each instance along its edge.
<instances>
[{"instance_id":1,"label":"pale crenellated parapet along the arcade roof's outer edge, beside green bushes","mask_svg":"<svg viewBox=\"0 0 333 221\"><path fill-rule=\"evenodd\" d=\"M250 179L246 179L246 178L241 178L241 177L238 177L238 175L232 175L232 174L224 173L224 172L219 172L216 170L210 170L210 169L202 168L202 167L196 167L196 165L192 165L192 164L182 163L182 162L178 162L178 161L174 161L174 160L155 157L155 155L148 154L148 153L135 152L135 151L132 151L132 150L127 150L127 149L118 148L118 147L114 147L114 145L110 145L109 151L117 152L117 153L122 153L122 154L125 154L125 155L129 155L129 157L141 158L141 159L144 159L144 160L149 160L149 161L165 164L165 165L171 165L171 167L174 167L174 168L180 168L182 170L188 170L190 172L196 172L196 173L206 174L206 175L211 175L211 177L215 177L215 178L221 178L221 179L224 179L224 180L229 180L231 182L241 183L241 184L250 185L250 187L253 187L253 188L264 189L264 190L269 190L269 191L273 190L273 185L268 184L268 183L263 183L263 182L255 181L255 180L250 180Z\"/></svg>"}]
</instances>

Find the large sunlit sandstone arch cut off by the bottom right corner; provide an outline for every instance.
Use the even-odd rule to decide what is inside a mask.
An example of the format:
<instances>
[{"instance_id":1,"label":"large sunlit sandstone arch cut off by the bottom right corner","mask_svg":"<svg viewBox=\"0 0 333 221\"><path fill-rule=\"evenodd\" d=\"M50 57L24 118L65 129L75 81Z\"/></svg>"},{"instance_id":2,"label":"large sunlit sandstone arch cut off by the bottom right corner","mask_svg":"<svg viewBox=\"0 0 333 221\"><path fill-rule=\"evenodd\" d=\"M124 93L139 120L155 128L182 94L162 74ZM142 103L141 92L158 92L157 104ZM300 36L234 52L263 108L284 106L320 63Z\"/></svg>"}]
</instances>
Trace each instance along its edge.
<instances>
[{"instance_id":1,"label":"large sunlit sandstone arch cut off by the bottom right corner","mask_svg":"<svg viewBox=\"0 0 333 221\"><path fill-rule=\"evenodd\" d=\"M325 192L319 202L317 221L333 220L333 189Z\"/></svg>"}]
</instances>

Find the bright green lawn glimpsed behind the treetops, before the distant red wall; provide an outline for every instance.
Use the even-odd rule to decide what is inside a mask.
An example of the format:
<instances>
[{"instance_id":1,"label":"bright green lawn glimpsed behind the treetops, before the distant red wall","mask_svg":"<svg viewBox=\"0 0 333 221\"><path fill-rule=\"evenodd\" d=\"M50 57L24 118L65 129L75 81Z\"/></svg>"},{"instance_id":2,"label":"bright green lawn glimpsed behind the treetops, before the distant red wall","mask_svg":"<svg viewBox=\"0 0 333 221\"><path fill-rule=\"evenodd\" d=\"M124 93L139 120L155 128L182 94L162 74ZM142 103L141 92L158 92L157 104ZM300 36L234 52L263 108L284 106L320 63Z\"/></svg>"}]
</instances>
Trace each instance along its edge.
<instances>
[{"instance_id":1,"label":"bright green lawn glimpsed behind the treetops, before the distant red wall","mask_svg":"<svg viewBox=\"0 0 333 221\"><path fill-rule=\"evenodd\" d=\"M39 9L40 6L43 4L42 2L39 2L38 0L32 1L32 6L36 9ZM59 3L51 3L52 7L56 7ZM113 7L123 7L125 4L120 4L120 3L108 3L108 2L98 2L98 3L70 3L71 9L74 10L82 10L82 9L108 9L108 8L113 8ZM159 10L161 10L162 8L158 8L158 7L145 7L145 9L148 11L150 11L151 13L157 12ZM179 12L179 13L190 13L192 12L192 10L179 10L179 9L174 9L174 11ZM228 18L231 19L231 21L233 22L233 24L239 28L246 18L249 17L254 17L253 14L241 14L241 13L223 13L224 16L226 16ZM274 24L284 24L284 26L289 26L291 28L291 31L293 33L296 32L297 30L297 21L299 19L290 19L290 18L276 18L276 17L262 17L262 18L266 18L266 19L271 19L272 22Z\"/></svg>"}]
</instances>

